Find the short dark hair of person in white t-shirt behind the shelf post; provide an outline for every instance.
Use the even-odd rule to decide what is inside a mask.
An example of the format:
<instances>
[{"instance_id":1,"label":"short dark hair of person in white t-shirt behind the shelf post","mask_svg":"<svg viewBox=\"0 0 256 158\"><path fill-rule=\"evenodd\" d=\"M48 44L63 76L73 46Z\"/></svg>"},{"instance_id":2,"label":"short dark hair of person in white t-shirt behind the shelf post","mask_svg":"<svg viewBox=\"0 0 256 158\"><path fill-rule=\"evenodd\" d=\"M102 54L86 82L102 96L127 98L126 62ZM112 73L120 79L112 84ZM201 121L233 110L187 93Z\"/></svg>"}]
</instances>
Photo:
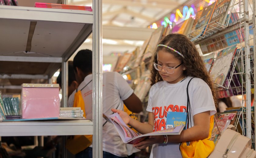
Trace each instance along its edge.
<instances>
[{"instance_id":1,"label":"short dark hair of person in white t-shirt behind the shelf post","mask_svg":"<svg viewBox=\"0 0 256 158\"><path fill-rule=\"evenodd\" d=\"M76 72L76 67L79 68L83 73L92 73L92 51L91 50L80 50L77 52L73 59L73 68Z\"/></svg>"}]
</instances>

